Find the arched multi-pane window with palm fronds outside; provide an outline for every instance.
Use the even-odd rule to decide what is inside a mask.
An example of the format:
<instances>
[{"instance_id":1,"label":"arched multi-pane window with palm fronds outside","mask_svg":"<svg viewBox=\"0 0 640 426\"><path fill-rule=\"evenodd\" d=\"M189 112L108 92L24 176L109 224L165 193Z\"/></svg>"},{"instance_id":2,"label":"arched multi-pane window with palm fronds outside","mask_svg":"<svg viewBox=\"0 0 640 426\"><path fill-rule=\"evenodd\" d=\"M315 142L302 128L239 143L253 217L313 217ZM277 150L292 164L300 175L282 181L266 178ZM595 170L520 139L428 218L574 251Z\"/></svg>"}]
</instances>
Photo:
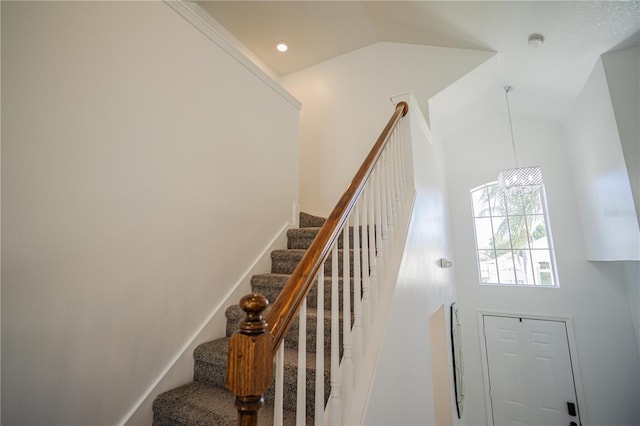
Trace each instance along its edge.
<instances>
[{"instance_id":1,"label":"arched multi-pane window with palm fronds outside","mask_svg":"<svg viewBox=\"0 0 640 426\"><path fill-rule=\"evenodd\" d=\"M471 190L481 284L557 287L544 186L502 192L496 182Z\"/></svg>"}]
</instances>

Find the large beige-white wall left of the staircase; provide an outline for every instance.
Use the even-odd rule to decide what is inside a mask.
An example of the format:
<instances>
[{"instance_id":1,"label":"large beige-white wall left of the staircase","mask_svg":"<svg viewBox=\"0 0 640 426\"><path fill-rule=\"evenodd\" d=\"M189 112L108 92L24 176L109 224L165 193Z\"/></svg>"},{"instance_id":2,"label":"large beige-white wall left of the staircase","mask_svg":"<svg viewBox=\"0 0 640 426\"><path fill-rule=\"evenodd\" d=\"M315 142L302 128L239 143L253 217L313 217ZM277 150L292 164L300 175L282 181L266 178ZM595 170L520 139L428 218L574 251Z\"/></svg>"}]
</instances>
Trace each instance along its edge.
<instances>
[{"instance_id":1,"label":"large beige-white wall left of the staircase","mask_svg":"<svg viewBox=\"0 0 640 426\"><path fill-rule=\"evenodd\" d=\"M161 2L2 43L2 423L116 424L291 220L297 106Z\"/></svg>"}]
</instances>

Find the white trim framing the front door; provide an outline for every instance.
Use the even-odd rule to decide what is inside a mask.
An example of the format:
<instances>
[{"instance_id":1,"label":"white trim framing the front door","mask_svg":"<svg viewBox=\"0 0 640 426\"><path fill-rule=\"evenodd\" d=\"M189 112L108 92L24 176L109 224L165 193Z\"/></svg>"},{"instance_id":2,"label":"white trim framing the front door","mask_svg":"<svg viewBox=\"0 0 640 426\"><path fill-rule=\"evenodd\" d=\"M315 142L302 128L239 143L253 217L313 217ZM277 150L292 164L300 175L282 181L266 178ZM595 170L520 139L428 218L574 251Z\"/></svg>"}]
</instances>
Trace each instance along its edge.
<instances>
[{"instance_id":1,"label":"white trim framing the front door","mask_svg":"<svg viewBox=\"0 0 640 426\"><path fill-rule=\"evenodd\" d=\"M573 370L573 383L576 388L576 399L578 402L578 412L580 413L580 422L582 426L588 426L589 420L587 416L587 405L584 399L584 391L582 389L582 376L580 374L580 363L578 362L578 350L575 343L575 333L573 329L573 318L569 316L559 315L540 315L524 312L505 312L505 311L488 311L478 310L478 335L480 337L480 358L482 361L482 382L484 387L485 411L487 413L487 424L493 425L493 409L491 406L491 397L489 396L489 367L487 358L487 344L484 337L484 317L509 317L509 318L526 318L543 321L563 322L567 328L567 341L569 343L569 358L571 360L571 368Z\"/></svg>"}]
</instances>

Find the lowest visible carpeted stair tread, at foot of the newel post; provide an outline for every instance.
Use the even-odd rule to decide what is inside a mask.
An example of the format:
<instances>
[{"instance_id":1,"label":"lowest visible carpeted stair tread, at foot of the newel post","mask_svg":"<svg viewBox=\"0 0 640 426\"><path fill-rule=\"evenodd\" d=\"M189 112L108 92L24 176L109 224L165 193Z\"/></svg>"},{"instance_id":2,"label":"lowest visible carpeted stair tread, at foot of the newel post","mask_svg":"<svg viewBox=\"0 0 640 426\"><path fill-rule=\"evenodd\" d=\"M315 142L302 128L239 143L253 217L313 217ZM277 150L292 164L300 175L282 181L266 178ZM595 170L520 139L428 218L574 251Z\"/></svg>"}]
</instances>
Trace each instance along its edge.
<instances>
[{"instance_id":1,"label":"lowest visible carpeted stair tread, at foot of the newel post","mask_svg":"<svg viewBox=\"0 0 640 426\"><path fill-rule=\"evenodd\" d=\"M226 389L191 382L159 395L153 403L154 426L236 426L234 396ZM295 425L295 413L284 412L284 425ZM313 420L307 418L307 425ZM258 424L273 424L273 407L265 405Z\"/></svg>"}]
</instances>

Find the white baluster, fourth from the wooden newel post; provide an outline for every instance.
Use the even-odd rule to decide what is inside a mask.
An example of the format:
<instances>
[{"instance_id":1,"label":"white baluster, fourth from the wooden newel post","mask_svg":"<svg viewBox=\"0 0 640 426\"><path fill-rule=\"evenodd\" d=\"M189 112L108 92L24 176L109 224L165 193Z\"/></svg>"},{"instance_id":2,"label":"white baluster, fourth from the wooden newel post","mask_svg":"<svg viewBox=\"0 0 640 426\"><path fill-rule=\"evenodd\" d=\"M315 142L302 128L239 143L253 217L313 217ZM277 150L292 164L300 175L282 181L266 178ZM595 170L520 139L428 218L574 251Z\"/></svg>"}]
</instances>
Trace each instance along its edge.
<instances>
[{"instance_id":1,"label":"white baluster, fourth from the wooden newel post","mask_svg":"<svg viewBox=\"0 0 640 426\"><path fill-rule=\"evenodd\" d=\"M342 396L340 394L340 305L338 281L338 243L331 251L331 425L340 425Z\"/></svg>"}]
</instances>

